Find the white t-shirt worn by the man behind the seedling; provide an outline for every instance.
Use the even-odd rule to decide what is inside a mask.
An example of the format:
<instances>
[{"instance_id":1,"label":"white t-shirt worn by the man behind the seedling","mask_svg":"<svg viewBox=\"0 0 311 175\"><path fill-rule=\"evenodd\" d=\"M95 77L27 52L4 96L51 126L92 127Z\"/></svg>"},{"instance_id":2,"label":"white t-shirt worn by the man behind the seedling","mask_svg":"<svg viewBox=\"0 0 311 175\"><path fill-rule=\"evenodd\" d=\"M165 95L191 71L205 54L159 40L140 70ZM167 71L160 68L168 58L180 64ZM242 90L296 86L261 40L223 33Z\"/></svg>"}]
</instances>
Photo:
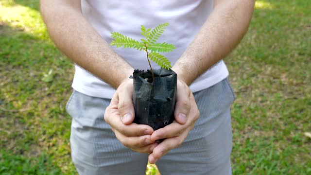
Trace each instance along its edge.
<instances>
[{"instance_id":1,"label":"white t-shirt worn by the man behind the seedling","mask_svg":"<svg viewBox=\"0 0 311 175\"><path fill-rule=\"evenodd\" d=\"M155 28L158 24L170 23L158 42L175 45L176 49L173 52L163 53L172 66L185 52L213 9L213 0L81 1L85 18L108 43L112 40L111 32L120 32L140 40L143 38L140 34L140 25ZM123 47L112 49L134 69L149 69L146 53L143 51ZM151 62L151 65L153 69L159 69L155 63ZM112 98L116 89L77 65L75 69L72 88L89 96ZM208 88L227 76L225 63L220 61L198 77L190 85L190 89L196 92Z\"/></svg>"}]
</instances>

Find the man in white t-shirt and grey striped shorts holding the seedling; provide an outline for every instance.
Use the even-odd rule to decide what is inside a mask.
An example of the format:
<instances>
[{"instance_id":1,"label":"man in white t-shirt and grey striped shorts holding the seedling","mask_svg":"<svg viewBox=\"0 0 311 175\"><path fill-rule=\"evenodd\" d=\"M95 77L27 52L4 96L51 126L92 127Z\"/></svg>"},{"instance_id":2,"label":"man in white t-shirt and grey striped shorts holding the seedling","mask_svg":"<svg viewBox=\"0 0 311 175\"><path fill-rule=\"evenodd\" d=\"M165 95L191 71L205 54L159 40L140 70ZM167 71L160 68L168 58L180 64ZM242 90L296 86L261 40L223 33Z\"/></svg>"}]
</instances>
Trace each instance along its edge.
<instances>
[{"instance_id":1,"label":"man in white t-shirt and grey striped shorts holding the seedling","mask_svg":"<svg viewBox=\"0 0 311 175\"><path fill-rule=\"evenodd\" d=\"M253 7L254 0L41 0L52 40L76 63L67 111L78 173L142 175L149 160L163 175L231 174L234 95L222 59L246 33ZM113 31L139 38L140 25L166 22L161 38L177 48L166 54L178 75L175 121L153 131L132 123L128 77L148 69L145 55L108 43Z\"/></svg>"}]
</instances>

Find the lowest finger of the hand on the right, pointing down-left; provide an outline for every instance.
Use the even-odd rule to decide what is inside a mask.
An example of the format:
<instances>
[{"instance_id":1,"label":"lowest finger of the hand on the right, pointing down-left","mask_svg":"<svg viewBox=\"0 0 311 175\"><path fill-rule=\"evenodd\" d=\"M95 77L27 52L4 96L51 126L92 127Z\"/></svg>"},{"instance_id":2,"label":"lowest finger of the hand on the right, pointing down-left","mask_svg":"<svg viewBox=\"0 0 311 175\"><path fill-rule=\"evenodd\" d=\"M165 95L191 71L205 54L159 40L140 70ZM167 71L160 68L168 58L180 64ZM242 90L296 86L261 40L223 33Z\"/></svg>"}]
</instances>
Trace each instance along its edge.
<instances>
[{"instance_id":1,"label":"lowest finger of the hand on the right, pointing down-left","mask_svg":"<svg viewBox=\"0 0 311 175\"><path fill-rule=\"evenodd\" d=\"M181 136L168 138L163 140L158 144L153 152L149 155L148 161L150 164L155 164L155 162L166 155L171 149L180 146L183 141L187 138L189 131L184 132Z\"/></svg>"}]
</instances>

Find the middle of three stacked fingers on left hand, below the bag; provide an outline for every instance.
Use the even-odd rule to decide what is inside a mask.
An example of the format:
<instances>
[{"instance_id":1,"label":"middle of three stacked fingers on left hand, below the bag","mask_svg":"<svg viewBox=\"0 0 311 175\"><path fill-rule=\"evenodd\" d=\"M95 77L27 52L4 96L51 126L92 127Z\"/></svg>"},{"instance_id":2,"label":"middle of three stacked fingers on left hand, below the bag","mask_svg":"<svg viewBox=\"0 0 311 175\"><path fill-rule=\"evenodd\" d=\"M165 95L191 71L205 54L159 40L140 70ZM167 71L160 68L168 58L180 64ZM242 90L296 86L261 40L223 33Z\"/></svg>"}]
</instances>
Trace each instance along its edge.
<instances>
[{"instance_id":1,"label":"middle of three stacked fingers on left hand, below the bag","mask_svg":"<svg viewBox=\"0 0 311 175\"><path fill-rule=\"evenodd\" d=\"M117 139L128 148L141 148L155 142L150 140L150 135L127 137L118 131L115 131L115 135Z\"/></svg>"}]
</instances>

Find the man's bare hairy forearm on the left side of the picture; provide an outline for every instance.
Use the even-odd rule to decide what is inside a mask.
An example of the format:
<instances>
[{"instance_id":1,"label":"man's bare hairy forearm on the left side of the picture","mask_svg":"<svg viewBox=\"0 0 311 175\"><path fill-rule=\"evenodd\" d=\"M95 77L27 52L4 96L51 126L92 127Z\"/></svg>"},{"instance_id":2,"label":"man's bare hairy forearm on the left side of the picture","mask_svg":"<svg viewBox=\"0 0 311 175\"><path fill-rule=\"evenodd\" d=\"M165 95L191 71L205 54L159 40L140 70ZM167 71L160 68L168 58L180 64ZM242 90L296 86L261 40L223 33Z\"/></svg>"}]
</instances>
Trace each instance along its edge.
<instances>
[{"instance_id":1,"label":"man's bare hairy forearm on the left side of the picture","mask_svg":"<svg viewBox=\"0 0 311 175\"><path fill-rule=\"evenodd\" d=\"M80 0L41 0L41 14L56 46L79 66L114 88L133 73L86 21Z\"/></svg>"}]
</instances>

